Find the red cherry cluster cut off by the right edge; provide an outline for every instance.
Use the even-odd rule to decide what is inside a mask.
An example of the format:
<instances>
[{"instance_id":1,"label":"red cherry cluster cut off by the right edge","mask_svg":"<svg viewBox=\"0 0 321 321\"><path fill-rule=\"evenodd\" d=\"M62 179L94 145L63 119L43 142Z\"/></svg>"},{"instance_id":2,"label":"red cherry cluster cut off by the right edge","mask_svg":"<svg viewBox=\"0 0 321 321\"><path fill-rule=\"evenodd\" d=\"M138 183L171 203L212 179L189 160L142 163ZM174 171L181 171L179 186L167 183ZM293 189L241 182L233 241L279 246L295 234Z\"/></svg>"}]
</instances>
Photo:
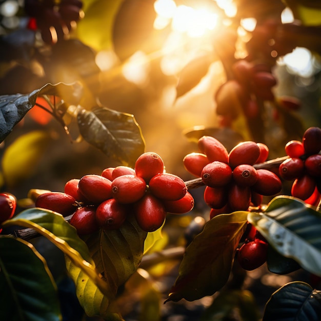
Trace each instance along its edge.
<instances>
[{"instance_id":1,"label":"red cherry cluster cut off by the right edge","mask_svg":"<svg viewBox=\"0 0 321 321\"><path fill-rule=\"evenodd\" d=\"M321 199L321 129L308 128L302 142L290 141L285 146L289 156L279 166L279 175L293 180L291 195L317 206Z\"/></svg>"}]
</instances>

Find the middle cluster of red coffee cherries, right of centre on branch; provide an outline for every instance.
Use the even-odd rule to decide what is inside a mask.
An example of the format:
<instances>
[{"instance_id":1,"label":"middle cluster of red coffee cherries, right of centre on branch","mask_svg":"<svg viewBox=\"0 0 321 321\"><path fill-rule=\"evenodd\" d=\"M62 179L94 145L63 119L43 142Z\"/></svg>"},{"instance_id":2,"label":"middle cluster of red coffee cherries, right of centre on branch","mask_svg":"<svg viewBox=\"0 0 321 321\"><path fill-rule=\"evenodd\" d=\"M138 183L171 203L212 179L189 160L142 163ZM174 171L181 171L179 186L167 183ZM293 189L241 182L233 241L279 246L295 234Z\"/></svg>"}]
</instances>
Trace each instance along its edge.
<instances>
[{"instance_id":1,"label":"middle cluster of red coffee cherries, right of centre on branch","mask_svg":"<svg viewBox=\"0 0 321 321\"><path fill-rule=\"evenodd\" d=\"M282 188L279 177L266 169L255 169L263 163L269 149L252 141L237 144L228 153L222 143L212 136L198 139L197 153L183 159L185 169L201 177L206 185L204 200L211 207L210 217L232 211L258 207L263 195L271 196Z\"/></svg>"}]
</instances>

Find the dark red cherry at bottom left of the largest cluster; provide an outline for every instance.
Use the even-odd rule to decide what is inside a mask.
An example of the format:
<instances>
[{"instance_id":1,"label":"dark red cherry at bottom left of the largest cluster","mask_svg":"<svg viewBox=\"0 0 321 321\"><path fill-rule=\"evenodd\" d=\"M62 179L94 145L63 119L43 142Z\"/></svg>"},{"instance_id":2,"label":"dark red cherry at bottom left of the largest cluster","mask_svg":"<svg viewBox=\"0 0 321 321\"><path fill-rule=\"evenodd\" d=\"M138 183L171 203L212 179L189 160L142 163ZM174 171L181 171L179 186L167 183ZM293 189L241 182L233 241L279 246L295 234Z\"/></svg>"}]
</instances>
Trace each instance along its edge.
<instances>
[{"instance_id":1,"label":"dark red cherry at bottom left of the largest cluster","mask_svg":"<svg viewBox=\"0 0 321 321\"><path fill-rule=\"evenodd\" d=\"M78 208L70 218L69 223L75 227L77 234L87 235L98 230L99 226L95 217L96 207L85 206Z\"/></svg>"}]
</instances>

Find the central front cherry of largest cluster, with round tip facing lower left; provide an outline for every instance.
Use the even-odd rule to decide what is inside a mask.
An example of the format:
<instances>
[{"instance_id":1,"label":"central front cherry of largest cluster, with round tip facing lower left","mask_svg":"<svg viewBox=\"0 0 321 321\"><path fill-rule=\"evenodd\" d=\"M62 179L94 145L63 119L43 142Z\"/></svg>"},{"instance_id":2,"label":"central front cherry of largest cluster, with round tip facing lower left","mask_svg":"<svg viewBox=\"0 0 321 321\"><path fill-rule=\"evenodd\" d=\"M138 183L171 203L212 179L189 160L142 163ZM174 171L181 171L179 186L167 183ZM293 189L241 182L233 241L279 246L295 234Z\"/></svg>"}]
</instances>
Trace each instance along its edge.
<instances>
[{"instance_id":1,"label":"central front cherry of largest cluster, with round tip facing lower left","mask_svg":"<svg viewBox=\"0 0 321 321\"><path fill-rule=\"evenodd\" d=\"M116 177L111 183L112 196L119 203L129 204L141 199L146 191L146 182L136 175Z\"/></svg>"}]
</instances>

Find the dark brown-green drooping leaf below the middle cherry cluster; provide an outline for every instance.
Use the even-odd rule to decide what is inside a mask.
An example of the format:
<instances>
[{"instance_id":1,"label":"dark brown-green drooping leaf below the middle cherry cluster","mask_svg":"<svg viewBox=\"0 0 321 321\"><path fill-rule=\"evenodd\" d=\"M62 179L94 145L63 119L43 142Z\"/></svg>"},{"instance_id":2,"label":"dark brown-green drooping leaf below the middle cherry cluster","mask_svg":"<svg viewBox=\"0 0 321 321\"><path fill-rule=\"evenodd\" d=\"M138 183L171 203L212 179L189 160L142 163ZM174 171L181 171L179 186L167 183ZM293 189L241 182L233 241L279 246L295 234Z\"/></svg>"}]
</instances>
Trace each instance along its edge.
<instances>
[{"instance_id":1,"label":"dark brown-green drooping leaf below the middle cherry cluster","mask_svg":"<svg viewBox=\"0 0 321 321\"><path fill-rule=\"evenodd\" d=\"M193 301L212 295L227 282L248 212L213 217L186 248L178 277L165 302Z\"/></svg>"}]
</instances>

